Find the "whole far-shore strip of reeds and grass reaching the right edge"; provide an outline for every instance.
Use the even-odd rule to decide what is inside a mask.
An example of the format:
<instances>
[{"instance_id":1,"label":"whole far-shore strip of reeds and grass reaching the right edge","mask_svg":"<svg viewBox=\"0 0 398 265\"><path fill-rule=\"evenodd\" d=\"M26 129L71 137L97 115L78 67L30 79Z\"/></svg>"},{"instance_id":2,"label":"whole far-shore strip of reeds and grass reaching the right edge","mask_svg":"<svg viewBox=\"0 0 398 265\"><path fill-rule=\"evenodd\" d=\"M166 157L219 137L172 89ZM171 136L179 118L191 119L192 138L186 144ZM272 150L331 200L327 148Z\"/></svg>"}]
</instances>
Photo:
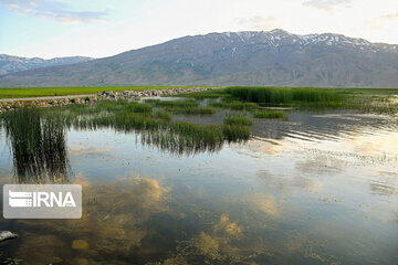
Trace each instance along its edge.
<instances>
[{"instance_id":1,"label":"whole far-shore strip of reeds and grass reaching the right edge","mask_svg":"<svg viewBox=\"0 0 398 265\"><path fill-rule=\"evenodd\" d=\"M213 98L221 97L221 102ZM318 88L318 87L244 87L191 93L190 98L209 98L210 106L253 110L242 104L290 106L301 109L356 109L365 113L397 114L397 88ZM233 103L233 100L239 103Z\"/></svg>"}]
</instances>

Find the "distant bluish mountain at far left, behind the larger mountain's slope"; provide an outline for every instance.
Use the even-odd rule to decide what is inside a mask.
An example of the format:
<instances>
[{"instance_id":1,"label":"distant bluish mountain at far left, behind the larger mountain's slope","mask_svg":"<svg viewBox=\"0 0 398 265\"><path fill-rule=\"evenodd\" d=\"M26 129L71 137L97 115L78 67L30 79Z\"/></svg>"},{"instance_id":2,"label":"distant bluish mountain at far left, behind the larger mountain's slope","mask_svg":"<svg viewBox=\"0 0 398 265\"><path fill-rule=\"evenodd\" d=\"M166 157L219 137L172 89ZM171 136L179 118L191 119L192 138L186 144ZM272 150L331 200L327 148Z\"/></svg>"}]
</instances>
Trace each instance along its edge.
<instances>
[{"instance_id":1,"label":"distant bluish mountain at far left, behind the larger mountain's slope","mask_svg":"<svg viewBox=\"0 0 398 265\"><path fill-rule=\"evenodd\" d=\"M56 65L75 64L91 61L91 57L72 56L72 57L55 57L44 60L40 57L18 57L8 54L0 54L0 75L6 75L19 71L40 68Z\"/></svg>"}]
</instances>

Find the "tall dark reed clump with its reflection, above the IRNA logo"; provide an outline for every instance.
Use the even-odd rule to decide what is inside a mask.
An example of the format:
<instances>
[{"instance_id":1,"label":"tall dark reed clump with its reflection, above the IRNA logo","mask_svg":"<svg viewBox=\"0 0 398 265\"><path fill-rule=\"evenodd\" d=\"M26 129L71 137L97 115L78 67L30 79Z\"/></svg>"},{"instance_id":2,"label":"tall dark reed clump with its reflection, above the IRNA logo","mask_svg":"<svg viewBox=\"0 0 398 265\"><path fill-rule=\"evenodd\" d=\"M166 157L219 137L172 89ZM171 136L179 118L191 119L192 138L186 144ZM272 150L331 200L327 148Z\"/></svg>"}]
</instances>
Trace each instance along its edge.
<instances>
[{"instance_id":1,"label":"tall dark reed clump with its reflection, above the IRNA logo","mask_svg":"<svg viewBox=\"0 0 398 265\"><path fill-rule=\"evenodd\" d=\"M67 180L66 132L59 116L43 118L39 109L22 108L3 114L2 126L11 147L17 182Z\"/></svg>"}]
</instances>

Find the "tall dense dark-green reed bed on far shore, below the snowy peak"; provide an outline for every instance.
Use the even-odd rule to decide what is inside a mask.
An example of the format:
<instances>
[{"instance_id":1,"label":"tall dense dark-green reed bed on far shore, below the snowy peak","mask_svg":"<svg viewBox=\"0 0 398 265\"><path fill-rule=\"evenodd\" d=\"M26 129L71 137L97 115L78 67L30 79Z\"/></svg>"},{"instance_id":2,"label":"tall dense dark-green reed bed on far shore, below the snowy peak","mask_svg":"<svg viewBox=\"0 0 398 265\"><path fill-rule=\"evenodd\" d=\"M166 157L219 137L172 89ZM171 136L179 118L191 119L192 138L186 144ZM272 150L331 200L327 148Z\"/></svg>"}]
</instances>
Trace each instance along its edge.
<instances>
[{"instance_id":1,"label":"tall dense dark-green reed bed on far shore, below the snowy peak","mask_svg":"<svg viewBox=\"0 0 398 265\"><path fill-rule=\"evenodd\" d=\"M329 103L344 99L343 94L331 88L294 87L228 87L226 93L244 102L260 104Z\"/></svg>"}]
</instances>

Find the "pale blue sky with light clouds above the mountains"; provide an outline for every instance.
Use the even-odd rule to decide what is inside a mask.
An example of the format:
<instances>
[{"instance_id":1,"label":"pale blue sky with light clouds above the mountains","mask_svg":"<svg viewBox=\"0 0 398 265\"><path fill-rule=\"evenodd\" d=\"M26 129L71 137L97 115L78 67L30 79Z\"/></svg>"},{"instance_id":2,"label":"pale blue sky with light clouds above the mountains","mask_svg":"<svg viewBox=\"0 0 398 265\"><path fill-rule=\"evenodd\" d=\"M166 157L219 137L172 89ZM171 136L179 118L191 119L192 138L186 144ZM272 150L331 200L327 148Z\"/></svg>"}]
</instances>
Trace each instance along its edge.
<instances>
[{"instance_id":1,"label":"pale blue sky with light clouds above the mountains","mask_svg":"<svg viewBox=\"0 0 398 265\"><path fill-rule=\"evenodd\" d=\"M397 0L0 0L0 53L103 57L209 32L334 32L398 44Z\"/></svg>"}]
</instances>

